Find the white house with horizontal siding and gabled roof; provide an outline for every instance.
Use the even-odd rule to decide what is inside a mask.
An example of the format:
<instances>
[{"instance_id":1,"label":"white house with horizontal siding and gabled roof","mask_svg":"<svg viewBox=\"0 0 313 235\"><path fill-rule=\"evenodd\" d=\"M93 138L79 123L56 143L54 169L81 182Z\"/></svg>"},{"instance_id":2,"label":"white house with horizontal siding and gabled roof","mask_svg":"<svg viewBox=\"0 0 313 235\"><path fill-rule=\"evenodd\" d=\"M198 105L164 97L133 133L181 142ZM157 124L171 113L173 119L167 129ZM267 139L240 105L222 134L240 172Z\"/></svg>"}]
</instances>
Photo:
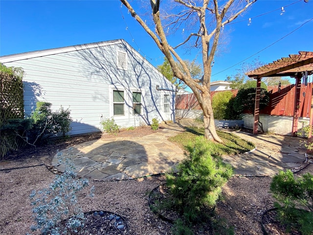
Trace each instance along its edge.
<instances>
[{"instance_id":1,"label":"white house with horizontal siding and gabled roof","mask_svg":"<svg viewBox=\"0 0 313 235\"><path fill-rule=\"evenodd\" d=\"M101 130L103 118L121 127L175 121L175 86L124 40L0 57L25 71L24 110L37 101L71 110L71 135Z\"/></svg>"}]
</instances>

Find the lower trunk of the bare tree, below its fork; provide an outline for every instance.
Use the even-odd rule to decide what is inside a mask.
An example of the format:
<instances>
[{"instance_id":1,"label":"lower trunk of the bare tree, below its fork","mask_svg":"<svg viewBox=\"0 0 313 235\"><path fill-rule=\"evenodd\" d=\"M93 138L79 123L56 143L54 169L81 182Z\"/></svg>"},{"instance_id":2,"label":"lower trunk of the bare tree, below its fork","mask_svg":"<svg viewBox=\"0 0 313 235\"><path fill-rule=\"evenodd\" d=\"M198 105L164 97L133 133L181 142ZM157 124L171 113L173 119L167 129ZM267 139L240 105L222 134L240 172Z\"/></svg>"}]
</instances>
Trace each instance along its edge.
<instances>
[{"instance_id":1,"label":"lower trunk of the bare tree, below its fork","mask_svg":"<svg viewBox=\"0 0 313 235\"><path fill-rule=\"evenodd\" d=\"M202 93L202 111L204 121L204 137L211 141L222 143L223 141L217 135L213 117L213 108L210 93Z\"/></svg>"}]
</instances>

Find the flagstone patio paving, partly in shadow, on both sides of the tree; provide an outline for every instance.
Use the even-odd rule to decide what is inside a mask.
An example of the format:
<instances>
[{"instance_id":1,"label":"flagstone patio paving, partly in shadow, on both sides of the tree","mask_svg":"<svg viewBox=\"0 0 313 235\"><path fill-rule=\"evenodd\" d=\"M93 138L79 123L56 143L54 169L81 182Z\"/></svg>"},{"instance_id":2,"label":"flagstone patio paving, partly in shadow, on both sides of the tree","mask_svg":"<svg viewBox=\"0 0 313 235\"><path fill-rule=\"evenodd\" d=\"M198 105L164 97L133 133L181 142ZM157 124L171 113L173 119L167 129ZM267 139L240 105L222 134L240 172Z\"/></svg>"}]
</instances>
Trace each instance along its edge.
<instances>
[{"instance_id":1,"label":"flagstone patio paving, partly in shadow, on both sides of the tree","mask_svg":"<svg viewBox=\"0 0 313 235\"><path fill-rule=\"evenodd\" d=\"M61 151L63 157L72 160L80 176L94 180L123 180L164 173L175 169L184 159L183 150L167 138L184 131L184 126L194 124L193 120L181 119L177 123L162 125L162 131L148 136L100 139ZM280 170L299 169L308 162L306 149L299 144L300 138L223 130L256 145L256 149L248 153L223 156L224 161L234 167L236 175L274 175ZM58 163L57 155L52 164L64 171L65 167Z\"/></svg>"}]
</instances>

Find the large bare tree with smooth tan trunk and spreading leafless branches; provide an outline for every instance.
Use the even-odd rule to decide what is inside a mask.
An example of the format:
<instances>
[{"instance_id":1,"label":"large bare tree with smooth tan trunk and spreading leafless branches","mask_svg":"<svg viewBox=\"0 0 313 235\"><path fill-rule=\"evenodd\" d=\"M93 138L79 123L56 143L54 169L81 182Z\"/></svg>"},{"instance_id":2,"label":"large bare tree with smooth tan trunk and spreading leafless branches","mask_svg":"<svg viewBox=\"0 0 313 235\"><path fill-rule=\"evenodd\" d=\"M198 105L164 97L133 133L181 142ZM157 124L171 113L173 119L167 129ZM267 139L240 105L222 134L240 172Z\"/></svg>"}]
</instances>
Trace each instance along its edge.
<instances>
[{"instance_id":1,"label":"large bare tree with smooth tan trunk and spreading leafless branches","mask_svg":"<svg viewBox=\"0 0 313 235\"><path fill-rule=\"evenodd\" d=\"M154 29L143 21L135 12L128 0L121 2L129 9L135 20L152 37L157 47L168 59L173 74L182 80L193 91L203 111L205 138L222 142L216 133L213 109L210 94L211 65L215 52L219 45L221 31L225 24L232 22L242 14L256 0L173 0L173 3L166 1L164 8L172 12L160 14L160 0L150 0ZM175 7L170 7L173 4ZM221 5L219 5L221 3ZM162 11L162 13L163 13ZM171 46L168 42L166 31L168 28L175 29L188 25L188 36L177 46ZM193 29L190 29L192 27ZM190 32L189 32L190 31ZM187 28L186 28L187 33ZM194 79L188 70L187 65L179 56L177 49L187 43L193 43L194 47L201 48L203 76L201 79ZM178 62L181 67L177 65Z\"/></svg>"}]
</instances>

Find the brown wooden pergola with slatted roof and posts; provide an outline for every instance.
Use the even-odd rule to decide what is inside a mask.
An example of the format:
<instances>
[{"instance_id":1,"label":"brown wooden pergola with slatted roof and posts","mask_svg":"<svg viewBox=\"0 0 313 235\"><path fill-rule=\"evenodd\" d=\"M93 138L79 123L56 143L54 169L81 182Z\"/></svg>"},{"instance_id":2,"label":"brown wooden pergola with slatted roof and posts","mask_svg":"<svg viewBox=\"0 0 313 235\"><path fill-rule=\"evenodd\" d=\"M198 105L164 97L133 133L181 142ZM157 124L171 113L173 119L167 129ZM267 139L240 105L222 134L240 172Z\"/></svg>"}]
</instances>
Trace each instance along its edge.
<instances>
[{"instance_id":1,"label":"brown wooden pergola with slatted roof and posts","mask_svg":"<svg viewBox=\"0 0 313 235\"><path fill-rule=\"evenodd\" d=\"M247 72L248 77L257 79L257 87L255 94L255 109L254 109L254 126L253 134L258 134L259 112L260 112L260 91L262 77L276 77L276 76L291 76L295 77L296 92L293 103L293 119L292 119L292 135L297 132L298 113L299 113L299 99L301 78L307 77L313 73L313 52L299 51L298 55L289 55L289 57L281 58L268 65ZM313 100L313 97L312 97ZM310 125L313 124L313 102L311 102L310 111ZM309 135L311 138L311 134Z\"/></svg>"}]
</instances>

